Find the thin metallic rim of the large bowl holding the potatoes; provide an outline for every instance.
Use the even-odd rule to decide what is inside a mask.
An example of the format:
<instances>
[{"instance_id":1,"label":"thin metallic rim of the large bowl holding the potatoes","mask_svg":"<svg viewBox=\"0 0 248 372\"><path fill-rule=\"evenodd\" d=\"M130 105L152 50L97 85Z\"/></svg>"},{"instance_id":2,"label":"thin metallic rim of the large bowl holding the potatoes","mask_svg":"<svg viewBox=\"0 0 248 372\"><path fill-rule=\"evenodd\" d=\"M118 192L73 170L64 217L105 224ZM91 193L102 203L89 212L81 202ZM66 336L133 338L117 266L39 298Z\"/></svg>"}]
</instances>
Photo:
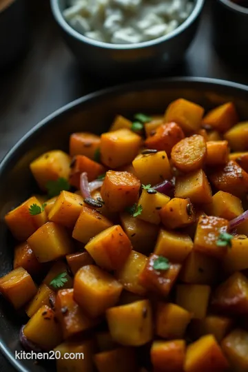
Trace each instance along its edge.
<instances>
[{"instance_id":1,"label":"thin metallic rim of the large bowl holding the potatoes","mask_svg":"<svg viewBox=\"0 0 248 372\"><path fill-rule=\"evenodd\" d=\"M52 114L46 116L43 120L41 120L37 125L34 125L32 129L30 129L26 134L24 134L17 143L12 146L12 148L7 152L7 154L3 157L0 162L0 179L3 176L3 173L8 169L8 163L11 161L12 157L18 152L19 149L25 147L25 143L32 138L32 136L39 133L39 130L43 129L43 127L50 124L50 122L56 117L65 112L70 112L70 110L74 110L76 107L82 105L83 103L87 103L88 101L94 101L94 99L100 99L101 96L108 96L112 94L120 94L122 92L129 92L131 90L142 91L144 89L152 89L153 87L166 87L169 84L188 84L191 88L194 89L197 85L206 87L226 87L234 92L242 92L248 95L248 86L242 85L240 83L234 83L233 81L225 81L220 79L213 79L208 77L173 77L173 78L165 78L165 79L150 79L145 81L134 81L132 83L126 83L123 85L116 85L114 87L107 87L103 90L98 90L96 92L92 92L90 94L86 94L85 96L81 96L79 99L76 99L63 107L59 108L58 110L52 112ZM3 341L1 332L0 332L0 350L1 353L6 357L8 362L14 366L14 368L19 372L30 372L25 366L21 365L21 360L17 360L14 358L14 353L10 351L10 348L7 344Z\"/></svg>"}]
</instances>

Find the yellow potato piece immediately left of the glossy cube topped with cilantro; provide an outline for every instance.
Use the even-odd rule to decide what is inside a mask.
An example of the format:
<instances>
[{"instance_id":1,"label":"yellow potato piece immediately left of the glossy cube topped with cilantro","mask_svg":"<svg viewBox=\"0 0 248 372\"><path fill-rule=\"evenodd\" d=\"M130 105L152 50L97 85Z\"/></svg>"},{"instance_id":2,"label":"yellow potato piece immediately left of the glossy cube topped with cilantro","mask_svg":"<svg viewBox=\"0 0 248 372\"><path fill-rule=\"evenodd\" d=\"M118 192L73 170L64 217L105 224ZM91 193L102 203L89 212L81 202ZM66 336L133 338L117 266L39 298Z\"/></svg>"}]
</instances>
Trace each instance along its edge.
<instances>
[{"instance_id":1,"label":"yellow potato piece immediately left of the glossy cube topped with cilantro","mask_svg":"<svg viewBox=\"0 0 248 372\"><path fill-rule=\"evenodd\" d=\"M131 251L123 267L116 271L116 279L130 292L144 295L146 289L139 283L139 275L145 268L148 258L136 251Z\"/></svg>"}]
</instances>

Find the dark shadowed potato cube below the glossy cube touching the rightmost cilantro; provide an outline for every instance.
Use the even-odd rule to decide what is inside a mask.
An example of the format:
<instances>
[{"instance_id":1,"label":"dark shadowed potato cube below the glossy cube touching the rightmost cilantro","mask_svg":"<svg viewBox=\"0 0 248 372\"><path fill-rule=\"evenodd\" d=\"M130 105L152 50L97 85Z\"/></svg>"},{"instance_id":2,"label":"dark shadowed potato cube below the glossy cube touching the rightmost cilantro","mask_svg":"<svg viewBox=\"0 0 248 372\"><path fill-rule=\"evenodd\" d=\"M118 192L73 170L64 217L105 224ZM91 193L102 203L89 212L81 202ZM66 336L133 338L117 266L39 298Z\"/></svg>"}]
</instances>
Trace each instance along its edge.
<instances>
[{"instance_id":1,"label":"dark shadowed potato cube below the glossy cube touching the rightmost cilantro","mask_svg":"<svg viewBox=\"0 0 248 372\"><path fill-rule=\"evenodd\" d=\"M189 284L212 285L216 282L219 262L216 258L193 251L187 256L180 271L180 280Z\"/></svg>"}]
</instances>

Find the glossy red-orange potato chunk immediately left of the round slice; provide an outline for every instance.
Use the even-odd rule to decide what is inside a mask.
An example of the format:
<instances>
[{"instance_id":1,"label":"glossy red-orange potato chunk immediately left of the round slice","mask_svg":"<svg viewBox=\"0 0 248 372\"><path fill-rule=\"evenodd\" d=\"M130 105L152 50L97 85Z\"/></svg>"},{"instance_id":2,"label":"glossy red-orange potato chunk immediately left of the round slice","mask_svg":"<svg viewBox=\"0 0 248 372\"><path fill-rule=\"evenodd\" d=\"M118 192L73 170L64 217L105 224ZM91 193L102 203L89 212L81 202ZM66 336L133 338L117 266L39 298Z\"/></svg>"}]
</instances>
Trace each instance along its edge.
<instances>
[{"instance_id":1,"label":"glossy red-orange potato chunk immediately left of the round slice","mask_svg":"<svg viewBox=\"0 0 248 372\"><path fill-rule=\"evenodd\" d=\"M148 149L164 150L169 156L172 152L172 147L183 139L183 130L176 123L165 123L156 128L152 136L149 136L145 141L145 146Z\"/></svg>"}]
</instances>

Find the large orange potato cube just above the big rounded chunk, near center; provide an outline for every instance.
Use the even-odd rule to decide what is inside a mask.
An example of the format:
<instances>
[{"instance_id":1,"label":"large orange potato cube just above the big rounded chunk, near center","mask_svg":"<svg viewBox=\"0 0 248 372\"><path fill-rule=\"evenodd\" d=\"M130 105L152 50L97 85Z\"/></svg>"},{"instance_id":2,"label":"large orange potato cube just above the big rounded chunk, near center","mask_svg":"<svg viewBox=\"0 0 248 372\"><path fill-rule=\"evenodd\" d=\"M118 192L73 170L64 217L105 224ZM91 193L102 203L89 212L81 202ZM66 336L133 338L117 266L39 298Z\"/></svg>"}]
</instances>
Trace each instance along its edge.
<instances>
[{"instance_id":1,"label":"large orange potato cube just above the big rounded chunk, near center","mask_svg":"<svg viewBox=\"0 0 248 372\"><path fill-rule=\"evenodd\" d=\"M120 225L114 225L94 236L86 251L96 265L106 270L121 269L132 251L132 244Z\"/></svg>"}]
</instances>

